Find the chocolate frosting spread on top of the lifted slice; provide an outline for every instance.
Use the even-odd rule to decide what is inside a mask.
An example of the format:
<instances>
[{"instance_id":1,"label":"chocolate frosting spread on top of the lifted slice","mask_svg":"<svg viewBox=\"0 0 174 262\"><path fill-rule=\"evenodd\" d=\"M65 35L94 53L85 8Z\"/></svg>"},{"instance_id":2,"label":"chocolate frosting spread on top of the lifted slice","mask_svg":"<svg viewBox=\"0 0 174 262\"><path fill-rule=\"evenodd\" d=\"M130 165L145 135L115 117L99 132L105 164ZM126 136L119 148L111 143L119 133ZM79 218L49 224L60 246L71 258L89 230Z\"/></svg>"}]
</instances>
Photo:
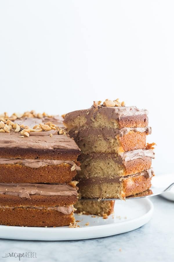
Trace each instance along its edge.
<instances>
[{"instance_id":1,"label":"chocolate frosting spread on top of the lifted slice","mask_svg":"<svg viewBox=\"0 0 174 262\"><path fill-rule=\"evenodd\" d=\"M94 110L95 109L95 110ZM96 110L97 109L97 110ZM135 116L148 114L146 109L138 109L135 106L130 107L90 107L89 109L77 110L66 114L64 123L68 122L70 119L74 119L78 116L85 116L87 122L90 121L91 117L95 118L95 115L102 114L108 119L120 119L125 116Z\"/></svg>"}]
</instances>

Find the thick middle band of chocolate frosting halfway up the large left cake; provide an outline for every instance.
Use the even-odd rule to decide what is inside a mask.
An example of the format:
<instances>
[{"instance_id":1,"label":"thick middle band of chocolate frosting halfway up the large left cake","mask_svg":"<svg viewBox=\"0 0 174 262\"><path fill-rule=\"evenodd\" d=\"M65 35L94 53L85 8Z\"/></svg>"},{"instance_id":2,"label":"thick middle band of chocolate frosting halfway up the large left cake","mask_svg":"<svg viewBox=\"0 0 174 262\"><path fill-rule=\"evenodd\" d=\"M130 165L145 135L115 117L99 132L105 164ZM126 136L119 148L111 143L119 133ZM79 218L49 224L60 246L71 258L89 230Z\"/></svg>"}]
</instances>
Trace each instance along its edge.
<instances>
[{"instance_id":1,"label":"thick middle band of chocolate frosting halfway up the large left cake","mask_svg":"<svg viewBox=\"0 0 174 262\"><path fill-rule=\"evenodd\" d=\"M39 196L77 196L77 189L68 184L0 183L0 194L30 198Z\"/></svg>"}]
</instances>

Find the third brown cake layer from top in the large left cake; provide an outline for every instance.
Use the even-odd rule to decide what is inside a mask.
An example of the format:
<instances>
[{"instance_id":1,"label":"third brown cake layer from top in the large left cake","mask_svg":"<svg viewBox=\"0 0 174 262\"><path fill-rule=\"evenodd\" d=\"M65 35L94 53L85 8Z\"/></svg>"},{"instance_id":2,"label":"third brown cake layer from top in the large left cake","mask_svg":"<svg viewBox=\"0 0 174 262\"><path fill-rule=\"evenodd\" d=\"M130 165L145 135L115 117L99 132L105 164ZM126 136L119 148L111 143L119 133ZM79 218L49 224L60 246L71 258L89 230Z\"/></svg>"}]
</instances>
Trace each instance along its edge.
<instances>
[{"instance_id":1,"label":"third brown cake layer from top in the large left cake","mask_svg":"<svg viewBox=\"0 0 174 262\"><path fill-rule=\"evenodd\" d=\"M76 203L78 197L72 196L39 196L30 195L30 198L0 194L1 206L69 206Z\"/></svg>"}]
</instances>

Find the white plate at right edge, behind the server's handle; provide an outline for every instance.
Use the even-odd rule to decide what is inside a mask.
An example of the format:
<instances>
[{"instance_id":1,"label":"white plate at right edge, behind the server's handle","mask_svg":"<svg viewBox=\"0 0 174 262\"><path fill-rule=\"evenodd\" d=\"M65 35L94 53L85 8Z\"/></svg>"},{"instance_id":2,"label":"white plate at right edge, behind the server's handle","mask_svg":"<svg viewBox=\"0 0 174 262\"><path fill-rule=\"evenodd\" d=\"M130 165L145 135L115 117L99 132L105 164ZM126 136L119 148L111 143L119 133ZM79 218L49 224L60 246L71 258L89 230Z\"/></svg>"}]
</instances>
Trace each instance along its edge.
<instances>
[{"instance_id":1,"label":"white plate at right edge, behind the server's handle","mask_svg":"<svg viewBox=\"0 0 174 262\"><path fill-rule=\"evenodd\" d=\"M153 187L168 187L174 182L174 174L165 174L162 176L154 176L152 183ZM174 201L174 186L170 191L160 194L161 197L164 197L168 200Z\"/></svg>"}]
</instances>

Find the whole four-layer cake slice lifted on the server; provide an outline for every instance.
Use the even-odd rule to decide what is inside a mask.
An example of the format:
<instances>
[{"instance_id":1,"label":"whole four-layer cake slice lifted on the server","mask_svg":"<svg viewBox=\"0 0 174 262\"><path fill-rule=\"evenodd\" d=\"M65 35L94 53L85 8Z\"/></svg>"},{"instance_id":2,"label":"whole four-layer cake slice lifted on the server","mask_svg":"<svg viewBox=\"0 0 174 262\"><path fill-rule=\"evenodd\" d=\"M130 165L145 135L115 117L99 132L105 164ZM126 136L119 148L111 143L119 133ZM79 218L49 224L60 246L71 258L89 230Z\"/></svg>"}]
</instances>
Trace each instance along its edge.
<instances>
[{"instance_id":1,"label":"whole four-layer cake slice lifted on the server","mask_svg":"<svg viewBox=\"0 0 174 262\"><path fill-rule=\"evenodd\" d=\"M82 198L125 198L151 187L154 152L146 148L147 114L118 99L66 114L64 125L82 153L77 172Z\"/></svg>"}]
</instances>

